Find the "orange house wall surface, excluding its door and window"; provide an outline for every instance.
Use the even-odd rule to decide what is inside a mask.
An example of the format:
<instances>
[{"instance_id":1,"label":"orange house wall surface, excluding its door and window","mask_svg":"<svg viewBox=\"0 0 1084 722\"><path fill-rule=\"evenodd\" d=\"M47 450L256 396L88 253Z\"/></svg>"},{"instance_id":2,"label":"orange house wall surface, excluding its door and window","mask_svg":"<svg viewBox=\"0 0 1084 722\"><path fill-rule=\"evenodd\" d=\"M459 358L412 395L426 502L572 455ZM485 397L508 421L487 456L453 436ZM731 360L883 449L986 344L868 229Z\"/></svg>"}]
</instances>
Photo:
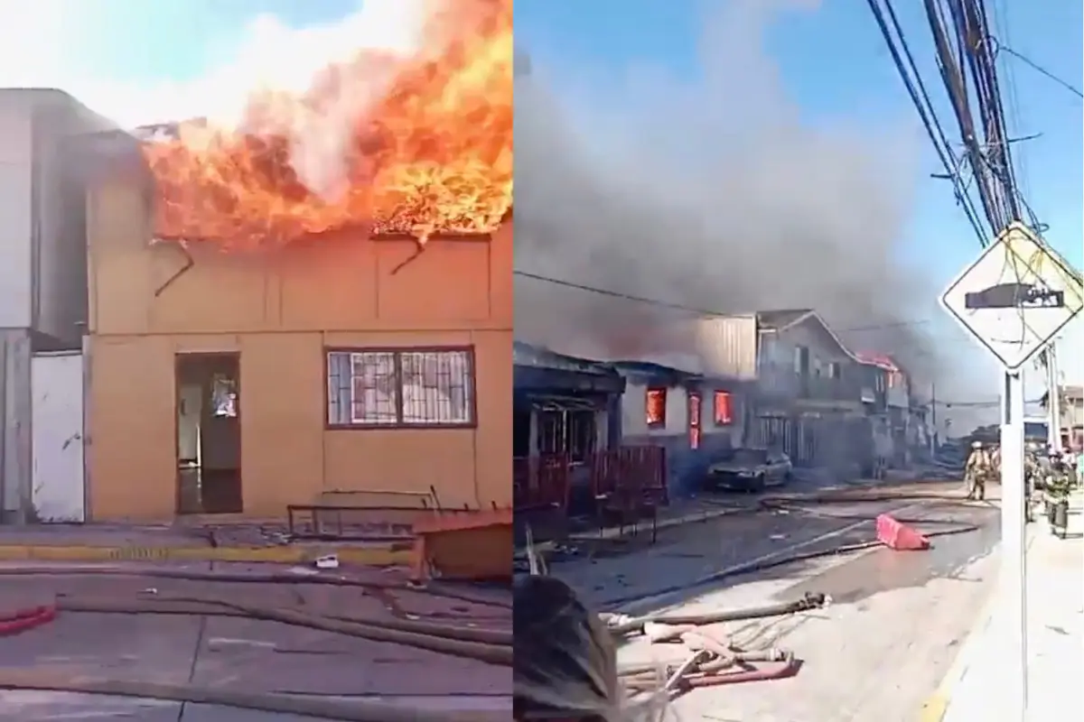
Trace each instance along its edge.
<instances>
[{"instance_id":1,"label":"orange house wall surface, excluding its door and window","mask_svg":"<svg viewBox=\"0 0 1084 722\"><path fill-rule=\"evenodd\" d=\"M176 499L177 354L237 352L245 516L359 490L512 503L512 223L492 238L323 237L263 254L150 244L133 184L88 197L90 513ZM325 428L327 347L473 345L476 429Z\"/></svg>"}]
</instances>

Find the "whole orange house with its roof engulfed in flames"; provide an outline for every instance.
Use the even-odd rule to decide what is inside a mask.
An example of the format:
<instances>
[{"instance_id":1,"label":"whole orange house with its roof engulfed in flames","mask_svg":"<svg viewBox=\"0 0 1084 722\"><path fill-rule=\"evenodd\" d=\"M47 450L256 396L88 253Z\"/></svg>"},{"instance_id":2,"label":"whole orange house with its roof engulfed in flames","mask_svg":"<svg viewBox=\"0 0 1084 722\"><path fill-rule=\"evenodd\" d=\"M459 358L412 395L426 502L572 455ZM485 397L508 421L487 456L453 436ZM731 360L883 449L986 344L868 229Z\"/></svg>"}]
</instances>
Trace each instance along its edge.
<instances>
[{"instance_id":1,"label":"whole orange house with its roof engulfed in flames","mask_svg":"<svg viewBox=\"0 0 1084 722\"><path fill-rule=\"evenodd\" d=\"M441 16L363 107L344 99L387 58L256 97L229 131L92 140L93 518L511 506L504 4Z\"/></svg>"}]
</instances>

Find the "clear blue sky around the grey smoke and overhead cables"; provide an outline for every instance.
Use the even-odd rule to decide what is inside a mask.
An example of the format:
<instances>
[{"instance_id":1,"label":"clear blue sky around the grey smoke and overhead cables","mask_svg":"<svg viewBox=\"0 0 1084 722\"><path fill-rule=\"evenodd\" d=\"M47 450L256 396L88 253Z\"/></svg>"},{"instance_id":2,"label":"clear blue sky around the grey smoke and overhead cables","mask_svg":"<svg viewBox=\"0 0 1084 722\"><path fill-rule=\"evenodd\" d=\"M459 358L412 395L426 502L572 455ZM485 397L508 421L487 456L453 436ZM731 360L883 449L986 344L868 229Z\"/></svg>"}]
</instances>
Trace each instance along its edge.
<instances>
[{"instance_id":1,"label":"clear blue sky around the grey smoke and overhead cables","mask_svg":"<svg viewBox=\"0 0 1084 722\"><path fill-rule=\"evenodd\" d=\"M556 2L517 0L516 42L532 63L544 69L551 84L591 84L584 78L620 77L630 67L664 68L673 77L695 79L702 68L698 43L713 12L733 0L592 0ZM765 0L765 3L771 0ZM776 5L785 3L776 2ZM789 3L797 5L799 3ZM814 3L801 3L806 6ZM933 50L920 2L895 2L896 12L943 122L953 122L938 81ZM1081 86L1081 4L1063 0L1008 2L989 0L999 40L1073 86ZM891 56L865 2L824 0L815 9L779 12L765 39L767 55L777 64L789 100L803 121L830 123L844 119L860 126L913 123L918 118L899 79ZM1066 89L1036 74L1019 61L1005 58L1005 83L1010 134L1041 133L1014 146L1025 197L1040 219L1049 225L1047 239L1077 267L1082 263L1082 102ZM556 81L556 82L554 82ZM1011 88L1011 95L1008 89ZM605 83L594 83L605 93ZM1011 101L1011 102L1009 102ZM958 137L946 126L950 140ZM902 239L912 263L929 270L942 288L978 253L978 240L963 213L955 208L945 181L929 178L941 171L932 147L916 144L916 197ZM938 312L916 310L925 317ZM939 319L940 323L940 319ZM1074 340L1084 345L1074 323ZM969 349L968 352L971 350ZM1072 363L1081 378L1084 357Z\"/></svg>"}]
</instances>

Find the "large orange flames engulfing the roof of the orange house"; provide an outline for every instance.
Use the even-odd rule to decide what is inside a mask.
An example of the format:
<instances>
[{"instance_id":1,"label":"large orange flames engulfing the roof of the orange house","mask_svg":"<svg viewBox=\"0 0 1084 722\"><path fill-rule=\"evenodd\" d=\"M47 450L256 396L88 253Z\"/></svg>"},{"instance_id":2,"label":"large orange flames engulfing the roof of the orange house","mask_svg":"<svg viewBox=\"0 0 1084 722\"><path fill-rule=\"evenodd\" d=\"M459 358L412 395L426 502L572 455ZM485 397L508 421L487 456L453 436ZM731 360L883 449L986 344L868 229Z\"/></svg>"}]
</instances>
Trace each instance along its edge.
<instances>
[{"instance_id":1,"label":"large orange flames engulfing the roof of the orange house","mask_svg":"<svg viewBox=\"0 0 1084 722\"><path fill-rule=\"evenodd\" d=\"M424 0L418 51L359 51L242 122L146 143L157 238L231 249L343 227L489 233L512 204L512 0Z\"/></svg>"}]
</instances>

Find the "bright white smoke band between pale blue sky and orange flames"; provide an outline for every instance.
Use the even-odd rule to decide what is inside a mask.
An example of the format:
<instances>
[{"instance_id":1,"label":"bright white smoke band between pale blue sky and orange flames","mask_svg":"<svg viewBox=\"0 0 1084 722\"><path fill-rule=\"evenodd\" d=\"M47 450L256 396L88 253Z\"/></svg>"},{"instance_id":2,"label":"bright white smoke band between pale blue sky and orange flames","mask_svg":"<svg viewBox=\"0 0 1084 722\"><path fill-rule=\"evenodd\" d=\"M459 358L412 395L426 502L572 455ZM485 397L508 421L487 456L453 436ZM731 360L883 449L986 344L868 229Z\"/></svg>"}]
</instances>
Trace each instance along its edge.
<instances>
[{"instance_id":1,"label":"bright white smoke band between pale blue sky and orange flames","mask_svg":"<svg viewBox=\"0 0 1084 722\"><path fill-rule=\"evenodd\" d=\"M92 12L93 3L88 5ZM215 62L202 75L132 80L90 75L83 68L93 58L68 56L63 43L47 40L78 28L78 3L0 0L0 87L60 88L126 128L195 117L231 126L255 91L304 92L320 70L360 50L415 54L425 6L425 0L364 0L335 22L305 26L259 14L224 51L216 47ZM201 60L210 58L208 48ZM141 62L133 56L133 69Z\"/></svg>"}]
</instances>

